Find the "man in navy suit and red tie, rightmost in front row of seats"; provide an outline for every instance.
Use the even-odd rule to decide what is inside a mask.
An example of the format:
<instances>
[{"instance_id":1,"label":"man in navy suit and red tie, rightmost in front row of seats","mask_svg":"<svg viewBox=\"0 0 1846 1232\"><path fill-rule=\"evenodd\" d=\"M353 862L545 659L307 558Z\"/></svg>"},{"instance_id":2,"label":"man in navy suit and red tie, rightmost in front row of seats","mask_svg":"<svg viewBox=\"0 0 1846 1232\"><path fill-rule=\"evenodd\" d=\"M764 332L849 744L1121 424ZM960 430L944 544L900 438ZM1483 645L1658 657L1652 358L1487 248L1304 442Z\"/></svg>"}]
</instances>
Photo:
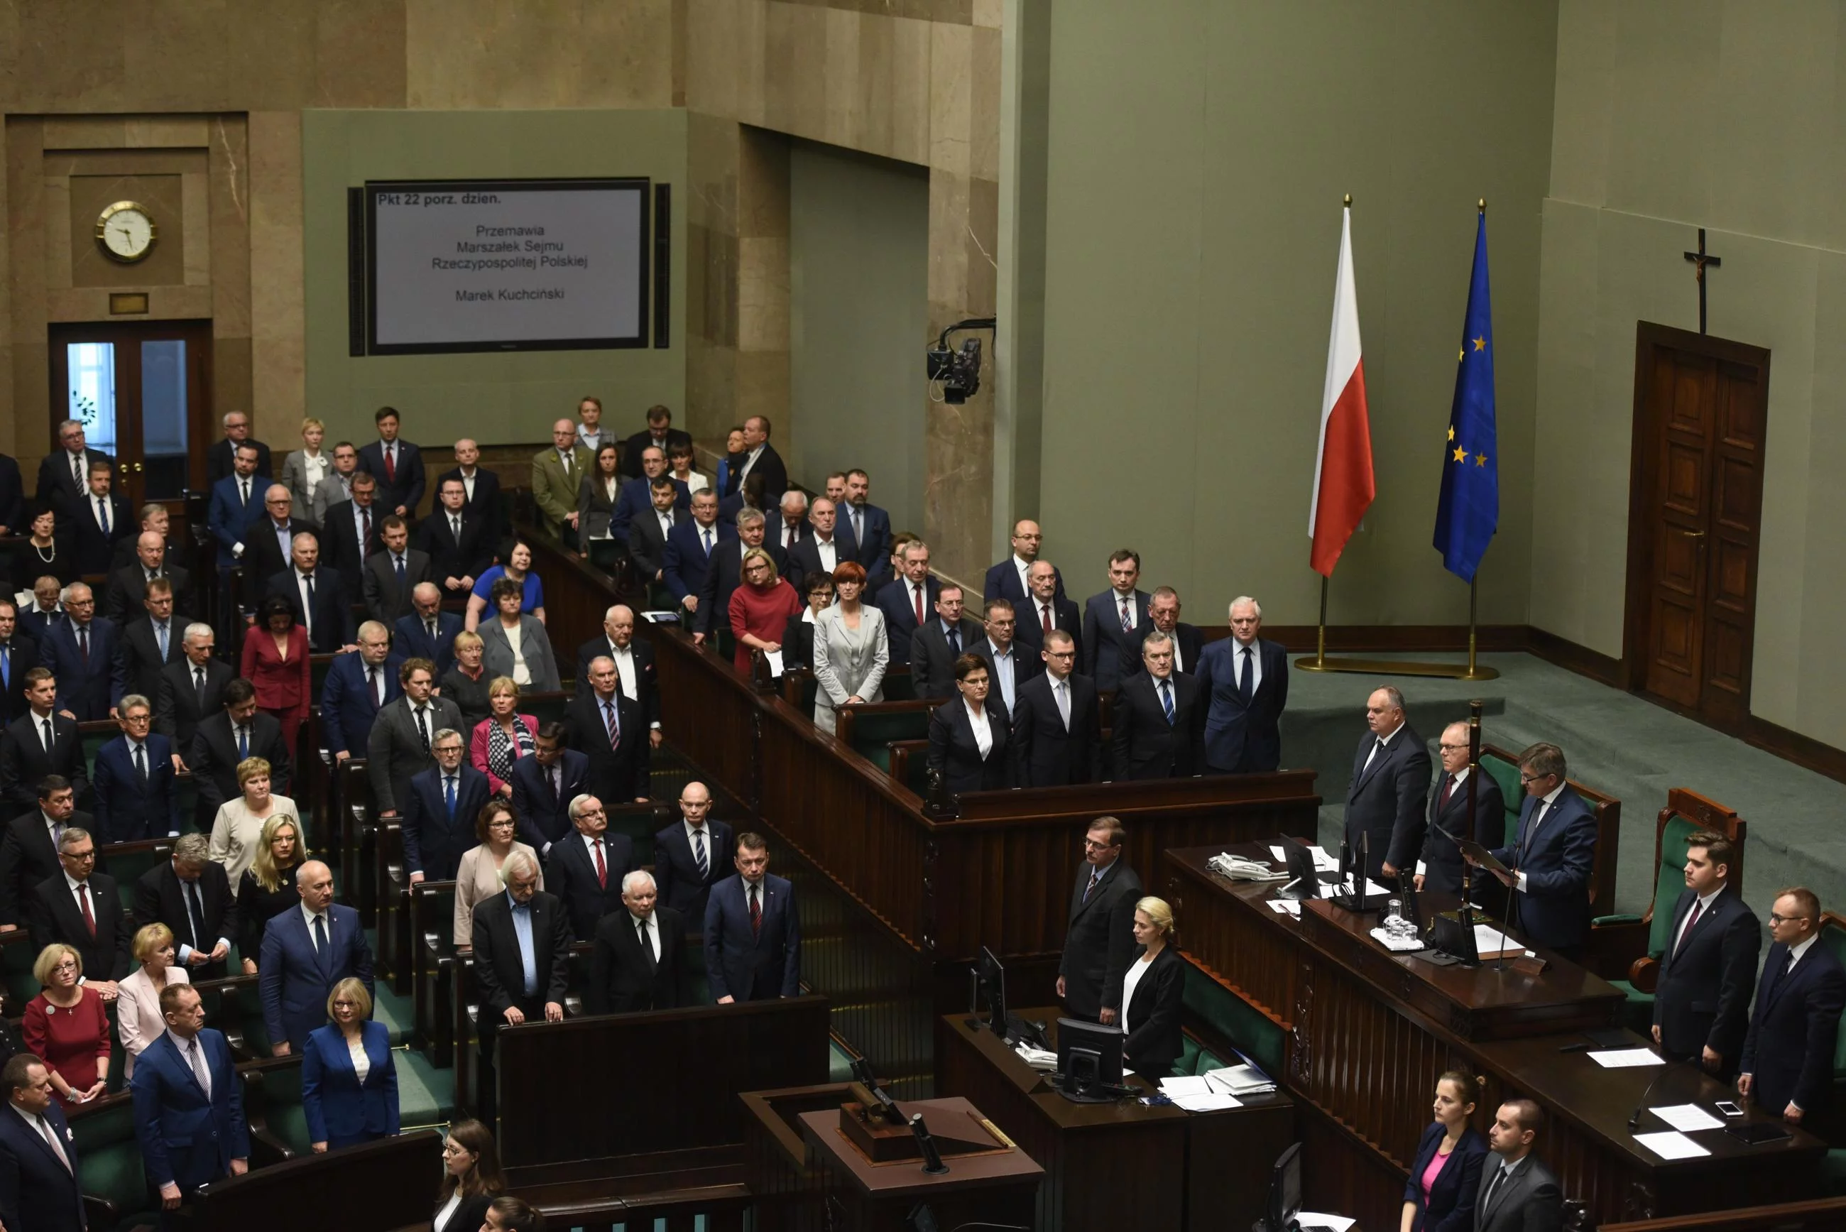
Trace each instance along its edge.
<instances>
[{"instance_id":1,"label":"man in navy suit and red tie, rightmost in front row of seats","mask_svg":"<svg viewBox=\"0 0 1846 1232\"><path fill-rule=\"evenodd\" d=\"M718 1005L773 1001L801 992L801 922L796 888L770 874L762 835L737 837L737 876L705 903L705 979Z\"/></svg>"}]
</instances>

